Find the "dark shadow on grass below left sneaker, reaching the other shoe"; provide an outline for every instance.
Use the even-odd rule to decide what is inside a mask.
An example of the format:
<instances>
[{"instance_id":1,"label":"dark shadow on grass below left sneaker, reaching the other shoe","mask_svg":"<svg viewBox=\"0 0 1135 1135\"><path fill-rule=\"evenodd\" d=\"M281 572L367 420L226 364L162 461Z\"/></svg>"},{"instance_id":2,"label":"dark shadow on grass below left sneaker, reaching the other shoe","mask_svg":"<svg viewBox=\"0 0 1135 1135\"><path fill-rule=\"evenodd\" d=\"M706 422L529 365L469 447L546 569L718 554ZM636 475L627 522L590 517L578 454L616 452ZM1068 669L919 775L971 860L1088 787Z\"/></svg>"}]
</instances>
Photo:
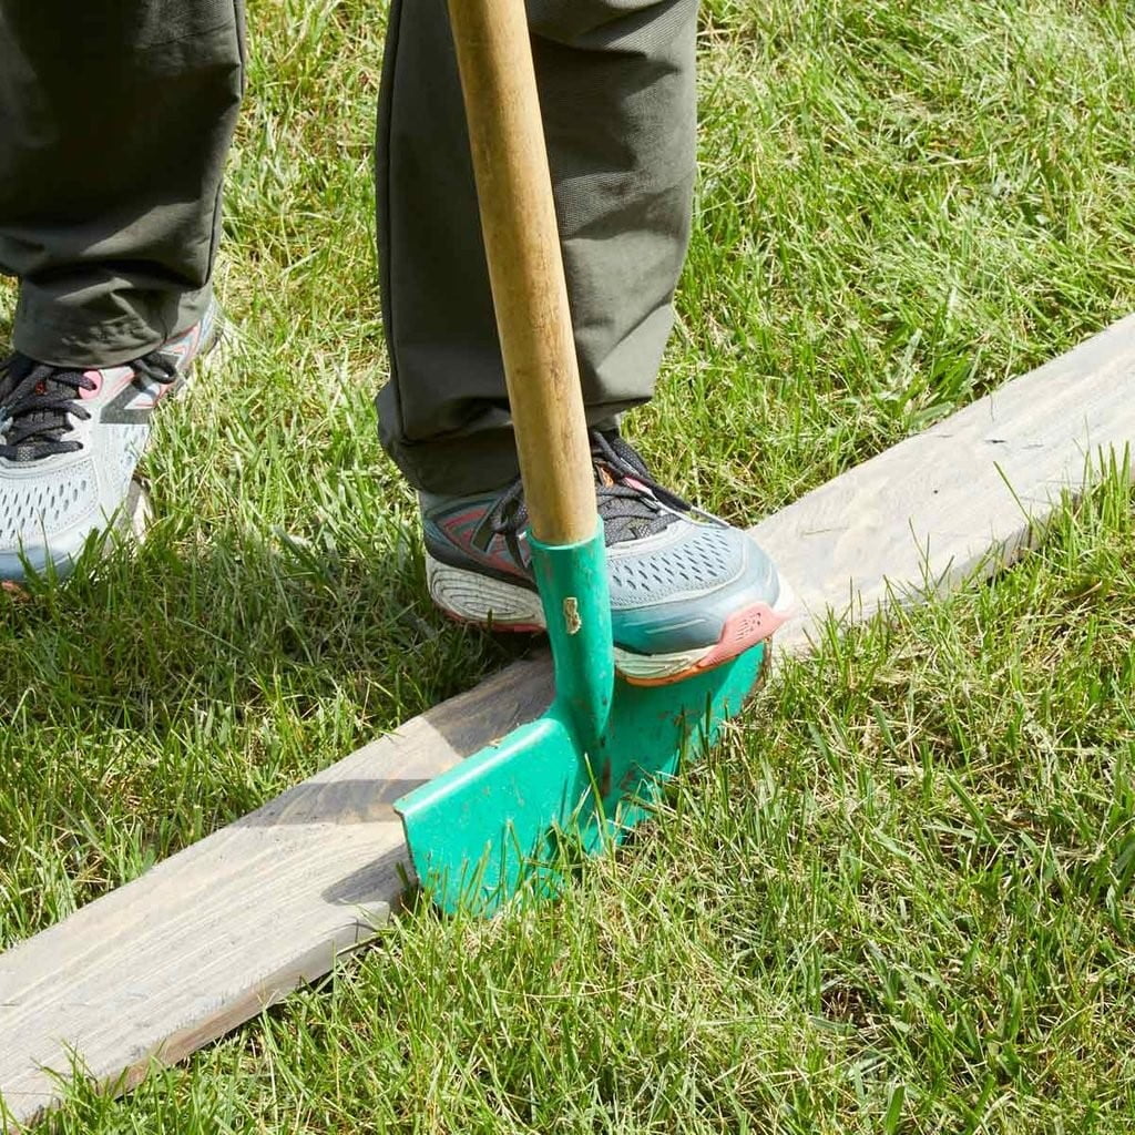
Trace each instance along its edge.
<instances>
[{"instance_id":1,"label":"dark shadow on grass below left sneaker, reaching the other shoe","mask_svg":"<svg viewBox=\"0 0 1135 1135\"><path fill-rule=\"evenodd\" d=\"M303 717L344 697L361 720L396 723L530 646L444 619L405 541L297 549L218 529L187 545L165 527L65 585L0 597L5 700L81 731L87 716L160 732L218 706Z\"/></svg>"}]
</instances>

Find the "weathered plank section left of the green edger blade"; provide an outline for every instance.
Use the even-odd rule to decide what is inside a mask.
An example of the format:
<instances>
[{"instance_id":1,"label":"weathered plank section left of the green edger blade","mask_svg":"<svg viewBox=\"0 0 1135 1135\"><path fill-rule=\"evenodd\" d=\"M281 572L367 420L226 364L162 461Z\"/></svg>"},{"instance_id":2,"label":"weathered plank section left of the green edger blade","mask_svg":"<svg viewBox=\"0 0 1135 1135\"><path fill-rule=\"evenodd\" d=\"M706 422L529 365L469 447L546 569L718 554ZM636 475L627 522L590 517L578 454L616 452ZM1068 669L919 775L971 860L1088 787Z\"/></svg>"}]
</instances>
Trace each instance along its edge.
<instances>
[{"instance_id":1,"label":"weathered plank section left of the green edger blade","mask_svg":"<svg viewBox=\"0 0 1135 1135\"><path fill-rule=\"evenodd\" d=\"M133 883L0 955L0 1098L17 1120L58 1094L68 1051L131 1086L369 935L402 891L390 804L531 720L550 667L516 664L367 745Z\"/></svg>"}]
</instances>

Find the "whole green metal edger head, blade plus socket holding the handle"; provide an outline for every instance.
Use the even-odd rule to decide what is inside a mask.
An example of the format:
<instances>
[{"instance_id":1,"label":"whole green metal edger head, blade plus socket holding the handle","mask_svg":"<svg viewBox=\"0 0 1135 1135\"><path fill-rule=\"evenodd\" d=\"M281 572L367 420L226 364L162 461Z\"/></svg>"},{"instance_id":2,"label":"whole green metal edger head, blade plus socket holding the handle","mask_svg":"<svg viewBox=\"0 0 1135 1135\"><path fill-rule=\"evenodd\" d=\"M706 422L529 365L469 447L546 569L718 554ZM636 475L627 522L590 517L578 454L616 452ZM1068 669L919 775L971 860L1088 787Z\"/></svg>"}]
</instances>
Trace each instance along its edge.
<instances>
[{"instance_id":1,"label":"whole green metal edger head, blade plus socket holding the handle","mask_svg":"<svg viewBox=\"0 0 1135 1135\"><path fill-rule=\"evenodd\" d=\"M620 840L659 783L741 709L764 664L759 645L671 686L616 679L602 536L531 544L555 701L395 804L418 877L448 913L491 914L526 882L554 892L562 841L594 855Z\"/></svg>"}]
</instances>

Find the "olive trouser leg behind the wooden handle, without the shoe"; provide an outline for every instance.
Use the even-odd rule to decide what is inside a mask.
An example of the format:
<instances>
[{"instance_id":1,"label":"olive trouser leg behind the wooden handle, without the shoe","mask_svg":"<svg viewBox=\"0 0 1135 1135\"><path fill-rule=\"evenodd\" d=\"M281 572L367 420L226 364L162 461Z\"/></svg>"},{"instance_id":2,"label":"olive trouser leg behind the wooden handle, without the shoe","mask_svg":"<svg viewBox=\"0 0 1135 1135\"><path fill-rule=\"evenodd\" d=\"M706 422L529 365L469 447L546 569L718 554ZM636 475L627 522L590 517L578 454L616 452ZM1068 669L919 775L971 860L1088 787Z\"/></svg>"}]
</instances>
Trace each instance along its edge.
<instances>
[{"instance_id":1,"label":"olive trouser leg behind the wooden handle, without the shoe","mask_svg":"<svg viewBox=\"0 0 1135 1135\"><path fill-rule=\"evenodd\" d=\"M537 77L588 418L650 397L695 176L697 0L532 0ZM419 489L516 476L445 0L394 0L378 235L384 444Z\"/></svg>"}]
</instances>

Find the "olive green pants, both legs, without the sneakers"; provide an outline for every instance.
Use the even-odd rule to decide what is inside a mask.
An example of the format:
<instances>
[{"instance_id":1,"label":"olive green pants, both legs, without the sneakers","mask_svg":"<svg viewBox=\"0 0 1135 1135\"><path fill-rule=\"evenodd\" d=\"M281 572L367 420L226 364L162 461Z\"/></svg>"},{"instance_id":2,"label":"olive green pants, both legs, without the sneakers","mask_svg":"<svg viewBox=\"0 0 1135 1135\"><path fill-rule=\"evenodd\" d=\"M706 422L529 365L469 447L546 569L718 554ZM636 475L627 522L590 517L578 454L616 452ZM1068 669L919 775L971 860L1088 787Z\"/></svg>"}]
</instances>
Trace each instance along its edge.
<instances>
[{"instance_id":1,"label":"olive green pants, both legs, without the sneakers","mask_svg":"<svg viewBox=\"0 0 1135 1135\"><path fill-rule=\"evenodd\" d=\"M209 302L243 0L0 0L0 271L15 346L109 365ZM646 401L695 169L697 0L529 0L589 419ZM393 0L378 243L382 443L418 488L516 459L445 0ZM523 218L520 219L523 221Z\"/></svg>"}]
</instances>

